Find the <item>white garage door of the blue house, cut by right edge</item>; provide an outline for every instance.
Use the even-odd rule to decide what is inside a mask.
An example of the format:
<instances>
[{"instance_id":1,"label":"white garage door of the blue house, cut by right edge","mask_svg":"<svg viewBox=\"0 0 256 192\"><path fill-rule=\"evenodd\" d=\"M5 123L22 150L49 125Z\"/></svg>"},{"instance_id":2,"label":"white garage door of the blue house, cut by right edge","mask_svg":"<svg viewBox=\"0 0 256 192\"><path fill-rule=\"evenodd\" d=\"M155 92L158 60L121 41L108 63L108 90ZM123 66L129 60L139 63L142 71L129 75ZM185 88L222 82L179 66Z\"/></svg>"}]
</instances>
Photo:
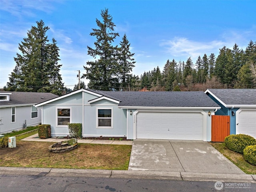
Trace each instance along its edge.
<instances>
[{"instance_id":1,"label":"white garage door of the blue house, cut by right edge","mask_svg":"<svg viewBox=\"0 0 256 192\"><path fill-rule=\"evenodd\" d=\"M256 138L256 110L243 110L236 112L236 134L247 134Z\"/></svg>"}]
</instances>

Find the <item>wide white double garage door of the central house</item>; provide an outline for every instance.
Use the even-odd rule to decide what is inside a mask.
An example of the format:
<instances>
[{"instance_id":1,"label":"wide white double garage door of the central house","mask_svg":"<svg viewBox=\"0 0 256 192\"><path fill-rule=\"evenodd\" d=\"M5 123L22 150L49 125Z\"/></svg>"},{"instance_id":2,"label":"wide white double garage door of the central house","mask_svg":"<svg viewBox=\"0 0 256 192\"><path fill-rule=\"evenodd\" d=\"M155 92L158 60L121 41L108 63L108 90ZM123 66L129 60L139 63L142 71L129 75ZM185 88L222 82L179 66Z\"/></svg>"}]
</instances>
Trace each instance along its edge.
<instances>
[{"instance_id":1,"label":"wide white double garage door of the central house","mask_svg":"<svg viewBox=\"0 0 256 192\"><path fill-rule=\"evenodd\" d=\"M203 115L183 112L138 112L137 138L203 140Z\"/></svg>"}]
</instances>

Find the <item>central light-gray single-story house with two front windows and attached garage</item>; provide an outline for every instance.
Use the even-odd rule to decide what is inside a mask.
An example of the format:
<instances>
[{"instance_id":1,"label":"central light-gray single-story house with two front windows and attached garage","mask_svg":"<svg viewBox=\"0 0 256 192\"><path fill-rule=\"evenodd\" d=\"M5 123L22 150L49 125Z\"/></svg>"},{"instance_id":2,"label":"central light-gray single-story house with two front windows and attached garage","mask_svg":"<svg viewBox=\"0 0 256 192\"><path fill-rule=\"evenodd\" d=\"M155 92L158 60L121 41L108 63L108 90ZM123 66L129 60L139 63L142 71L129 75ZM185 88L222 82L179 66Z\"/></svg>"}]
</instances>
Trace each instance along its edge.
<instances>
[{"instance_id":1,"label":"central light-gray single-story house with two front windows and attached garage","mask_svg":"<svg viewBox=\"0 0 256 192\"><path fill-rule=\"evenodd\" d=\"M211 140L211 115L220 108L204 92L105 92L80 89L35 105L52 136L82 123L83 137Z\"/></svg>"}]
</instances>

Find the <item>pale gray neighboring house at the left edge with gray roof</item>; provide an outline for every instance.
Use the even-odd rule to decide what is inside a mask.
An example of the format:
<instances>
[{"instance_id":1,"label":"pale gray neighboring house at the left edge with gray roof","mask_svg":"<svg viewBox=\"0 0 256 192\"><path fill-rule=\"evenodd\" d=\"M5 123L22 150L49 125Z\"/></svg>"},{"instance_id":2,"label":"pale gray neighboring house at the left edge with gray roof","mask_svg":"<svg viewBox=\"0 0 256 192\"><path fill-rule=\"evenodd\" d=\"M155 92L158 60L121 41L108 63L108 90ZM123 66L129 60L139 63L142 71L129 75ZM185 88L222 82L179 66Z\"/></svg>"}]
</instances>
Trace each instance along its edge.
<instances>
[{"instance_id":1,"label":"pale gray neighboring house at the left edge with gray roof","mask_svg":"<svg viewBox=\"0 0 256 192\"><path fill-rule=\"evenodd\" d=\"M0 91L0 133L40 124L42 112L34 104L56 97L52 93Z\"/></svg>"}]
</instances>

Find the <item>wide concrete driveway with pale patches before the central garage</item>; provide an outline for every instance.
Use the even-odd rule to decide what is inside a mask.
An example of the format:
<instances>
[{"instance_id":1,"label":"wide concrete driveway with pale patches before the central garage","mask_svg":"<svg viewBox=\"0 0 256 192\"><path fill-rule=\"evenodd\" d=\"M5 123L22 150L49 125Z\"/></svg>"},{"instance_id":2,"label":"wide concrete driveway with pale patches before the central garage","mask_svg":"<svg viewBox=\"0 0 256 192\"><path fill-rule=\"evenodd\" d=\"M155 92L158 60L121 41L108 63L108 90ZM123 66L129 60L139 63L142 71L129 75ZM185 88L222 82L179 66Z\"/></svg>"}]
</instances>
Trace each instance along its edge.
<instances>
[{"instance_id":1,"label":"wide concrete driveway with pale patches before the central garage","mask_svg":"<svg viewBox=\"0 0 256 192\"><path fill-rule=\"evenodd\" d=\"M128 170L245 174L203 141L136 139Z\"/></svg>"}]
</instances>

